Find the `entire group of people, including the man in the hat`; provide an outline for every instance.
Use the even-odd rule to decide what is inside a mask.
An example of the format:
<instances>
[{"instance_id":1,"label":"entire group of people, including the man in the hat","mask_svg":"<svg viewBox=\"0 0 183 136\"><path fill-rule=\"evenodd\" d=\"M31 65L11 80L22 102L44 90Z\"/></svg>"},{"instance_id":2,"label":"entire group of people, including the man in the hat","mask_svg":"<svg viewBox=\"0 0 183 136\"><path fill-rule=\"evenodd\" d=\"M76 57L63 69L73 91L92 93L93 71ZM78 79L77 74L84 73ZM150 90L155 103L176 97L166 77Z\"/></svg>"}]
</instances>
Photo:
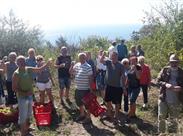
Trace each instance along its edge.
<instances>
[{"instance_id":1,"label":"entire group of people, including the man in the hat","mask_svg":"<svg viewBox=\"0 0 183 136\"><path fill-rule=\"evenodd\" d=\"M144 51L141 45L131 46L128 51L125 41L120 44L113 41L108 49L108 54L100 50L96 61L92 59L91 52L80 52L78 62L72 61L67 47L63 46L57 57L54 67L58 70L58 83L60 103L69 98L71 79L74 77L75 102L79 107L80 115L76 121L90 123L90 112L84 106L82 99L91 92L93 83L103 99L102 104L107 107L106 117L114 123L120 122L119 112L124 96L124 113L127 115L126 122L136 118L136 100L143 92L143 108L148 107L148 87L151 83L150 67L145 64ZM158 102L158 130L165 132L168 115L173 128L177 126L177 117L180 109L178 94L183 87L183 71L178 67L179 59L172 54L169 59L170 65L163 68L158 76L157 83L160 85L160 99ZM7 104L18 102L19 124L21 135L26 135L30 126L32 115L32 102L34 99L34 85L40 92L40 102L45 102L45 93L49 101L54 103L52 96L52 79L49 66L52 60L45 62L42 55L36 56L35 50L28 50L28 57L18 56L15 52L8 55L8 60L1 60L0 64L0 98L4 97L3 74L5 74ZM113 107L114 105L114 107ZM114 110L114 114L113 111ZM176 114L174 114L176 112Z\"/></svg>"}]
</instances>

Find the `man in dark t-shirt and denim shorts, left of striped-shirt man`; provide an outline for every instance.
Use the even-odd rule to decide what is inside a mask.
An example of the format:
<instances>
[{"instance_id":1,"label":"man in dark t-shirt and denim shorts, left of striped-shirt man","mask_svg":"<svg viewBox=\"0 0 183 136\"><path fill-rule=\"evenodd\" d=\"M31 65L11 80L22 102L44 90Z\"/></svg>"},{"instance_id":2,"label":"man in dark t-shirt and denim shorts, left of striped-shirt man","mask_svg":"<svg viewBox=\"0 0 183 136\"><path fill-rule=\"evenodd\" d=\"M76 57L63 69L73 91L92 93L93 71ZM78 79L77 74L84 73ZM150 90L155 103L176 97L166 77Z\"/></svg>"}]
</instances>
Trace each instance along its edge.
<instances>
[{"instance_id":1,"label":"man in dark t-shirt and denim shorts, left of striped-shirt man","mask_svg":"<svg viewBox=\"0 0 183 136\"><path fill-rule=\"evenodd\" d=\"M63 46L60 50L60 56L57 57L55 63L55 67L58 69L61 103L64 97L64 88L66 88L65 90L66 101L70 102L69 100L69 90L71 84L70 73L69 73L70 66L71 66L71 56L67 55L67 47Z\"/></svg>"}]
</instances>

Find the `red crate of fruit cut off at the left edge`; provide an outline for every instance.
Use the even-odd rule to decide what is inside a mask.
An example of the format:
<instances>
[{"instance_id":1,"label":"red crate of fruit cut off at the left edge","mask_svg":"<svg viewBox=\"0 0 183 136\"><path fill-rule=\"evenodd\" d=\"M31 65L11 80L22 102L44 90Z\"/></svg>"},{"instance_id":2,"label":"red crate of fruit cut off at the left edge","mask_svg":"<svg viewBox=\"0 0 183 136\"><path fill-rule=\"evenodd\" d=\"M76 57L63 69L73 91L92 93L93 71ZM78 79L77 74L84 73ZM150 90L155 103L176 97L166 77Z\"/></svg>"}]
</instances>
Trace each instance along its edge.
<instances>
[{"instance_id":1,"label":"red crate of fruit cut off at the left edge","mask_svg":"<svg viewBox=\"0 0 183 136\"><path fill-rule=\"evenodd\" d=\"M3 109L3 107L0 107ZM0 124L17 123L18 122L18 109L14 109L15 112L10 114L0 113Z\"/></svg>"}]
</instances>

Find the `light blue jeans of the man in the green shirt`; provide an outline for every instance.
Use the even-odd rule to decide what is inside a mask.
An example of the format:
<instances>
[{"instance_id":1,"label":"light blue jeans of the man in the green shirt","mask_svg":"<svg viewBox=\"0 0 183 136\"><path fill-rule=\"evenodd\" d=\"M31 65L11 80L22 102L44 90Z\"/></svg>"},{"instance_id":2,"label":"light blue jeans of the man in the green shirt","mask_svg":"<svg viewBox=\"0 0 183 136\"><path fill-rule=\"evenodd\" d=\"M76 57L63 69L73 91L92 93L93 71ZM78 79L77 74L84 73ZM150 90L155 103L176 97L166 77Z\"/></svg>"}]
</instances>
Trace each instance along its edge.
<instances>
[{"instance_id":1,"label":"light blue jeans of the man in the green shirt","mask_svg":"<svg viewBox=\"0 0 183 136\"><path fill-rule=\"evenodd\" d=\"M32 96L25 96L18 98L18 109L19 109L19 121L21 125L26 122L27 119L30 119L32 116Z\"/></svg>"}]
</instances>

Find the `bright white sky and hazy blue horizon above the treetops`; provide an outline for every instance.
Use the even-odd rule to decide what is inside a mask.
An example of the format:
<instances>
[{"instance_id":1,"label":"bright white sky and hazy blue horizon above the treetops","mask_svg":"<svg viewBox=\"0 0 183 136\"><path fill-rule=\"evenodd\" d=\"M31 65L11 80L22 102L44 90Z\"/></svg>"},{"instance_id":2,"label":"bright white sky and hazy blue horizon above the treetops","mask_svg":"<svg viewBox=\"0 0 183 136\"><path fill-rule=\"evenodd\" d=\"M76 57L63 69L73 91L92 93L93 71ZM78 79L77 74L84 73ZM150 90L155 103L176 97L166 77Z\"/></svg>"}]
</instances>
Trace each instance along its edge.
<instances>
[{"instance_id":1,"label":"bright white sky and hazy blue horizon above the treetops","mask_svg":"<svg viewBox=\"0 0 183 136\"><path fill-rule=\"evenodd\" d=\"M8 16L13 10L29 26L39 25L45 38L53 42L60 35L70 39L91 34L129 38L134 29L142 26L144 11L160 2L162 0L0 0L0 16Z\"/></svg>"}]
</instances>

